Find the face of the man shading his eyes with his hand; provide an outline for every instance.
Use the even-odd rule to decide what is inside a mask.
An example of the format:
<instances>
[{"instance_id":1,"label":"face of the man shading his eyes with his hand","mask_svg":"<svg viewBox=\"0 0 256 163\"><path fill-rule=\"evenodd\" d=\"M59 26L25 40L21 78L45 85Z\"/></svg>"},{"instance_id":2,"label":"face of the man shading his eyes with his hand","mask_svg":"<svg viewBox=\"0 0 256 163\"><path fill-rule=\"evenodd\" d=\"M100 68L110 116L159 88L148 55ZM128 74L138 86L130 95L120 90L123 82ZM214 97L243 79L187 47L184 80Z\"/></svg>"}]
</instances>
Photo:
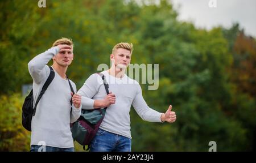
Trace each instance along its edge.
<instances>
[{"instance_id":1,"label":"face of the man shading his eyes with his hand","mask_svg":"<svg viewBox=\"0 0 256 163\"><path fill-rule=\"evenodd\" d=\"M73 57L72 46L72 49L60 49L59 53L53 57L53 62L56 62L59 66L67 67L71 65Z\"/></svg>"}]
</instances>

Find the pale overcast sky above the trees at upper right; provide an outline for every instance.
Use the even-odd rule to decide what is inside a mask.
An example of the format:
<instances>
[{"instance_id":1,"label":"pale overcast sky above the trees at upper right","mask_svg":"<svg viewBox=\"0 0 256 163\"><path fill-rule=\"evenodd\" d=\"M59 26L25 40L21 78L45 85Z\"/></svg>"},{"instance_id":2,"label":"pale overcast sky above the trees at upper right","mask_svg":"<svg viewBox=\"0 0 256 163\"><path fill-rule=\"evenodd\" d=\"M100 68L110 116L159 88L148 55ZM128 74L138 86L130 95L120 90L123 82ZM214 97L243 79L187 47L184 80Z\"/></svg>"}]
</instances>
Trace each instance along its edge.
<instances>
[{"instance_id":1,"label":"pale overcast sky above the trees at upper right","mask_svg":"<svg viewBox=\"0 0 256 163\"><path fill-rule=\"evenodd\" d=\"M209 7L209 2L212 7ZM196 27L211 29L218 25L229 28L238 22L245 33L256 38L256 0L172 0L178 19L193 22ZM179 7L180 5L180 7Z\"/></svg>"}]
</instances>

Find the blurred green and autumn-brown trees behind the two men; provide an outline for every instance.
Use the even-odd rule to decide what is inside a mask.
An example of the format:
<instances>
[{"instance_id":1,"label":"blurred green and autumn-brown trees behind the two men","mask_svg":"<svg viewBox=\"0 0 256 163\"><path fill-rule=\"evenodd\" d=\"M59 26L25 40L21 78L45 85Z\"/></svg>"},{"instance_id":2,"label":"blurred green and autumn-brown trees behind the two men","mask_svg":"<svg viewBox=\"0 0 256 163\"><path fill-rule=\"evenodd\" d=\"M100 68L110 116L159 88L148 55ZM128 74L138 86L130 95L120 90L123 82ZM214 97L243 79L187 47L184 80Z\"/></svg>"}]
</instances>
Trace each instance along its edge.
<instances>
[{"instance_id":1,"label":"blurred green and autumn-brown trees behind the two men","mask_svg":"<svg viewBox=\"0 0 256 163\"><path fill-rule=\"evenodd\" d=\"M68 76L80 89L118 42L132 42L131 63L159 64L159 88L143 97L155 110L170 104L175 123L144 122L131 109L132 151L256 149L256 42L240 24L209 30L177 20L170 1L54 0L0 2L0 151L29 151L21 125L27 63L61 37L72 38ZM51 63L49 63L51 64ZM75 143L76 151L83 151Z\"/></svg>"}]
</instances>

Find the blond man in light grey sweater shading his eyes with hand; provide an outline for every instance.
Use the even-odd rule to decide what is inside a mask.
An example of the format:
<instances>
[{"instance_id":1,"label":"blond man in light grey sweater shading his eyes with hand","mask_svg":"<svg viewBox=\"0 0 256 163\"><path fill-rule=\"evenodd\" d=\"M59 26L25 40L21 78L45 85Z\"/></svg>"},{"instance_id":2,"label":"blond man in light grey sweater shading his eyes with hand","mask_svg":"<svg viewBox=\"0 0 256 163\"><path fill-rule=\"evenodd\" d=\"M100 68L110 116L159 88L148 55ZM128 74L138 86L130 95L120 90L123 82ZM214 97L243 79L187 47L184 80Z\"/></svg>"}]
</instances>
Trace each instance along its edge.
<instances>
[{"instance_id":1,"label":"blond man in light grey sweater shading his eyes with hand","mask_svg":"<svg viewBox=\"0 0 256 163\"><path fill-rule=\"evenodd\" d=\"M55 76L40 99L31 123L31 151L73 152L74 144L69 124L81 115L81 96L74 94L76 85L67 78L66 72L73 60L73 42L69 38L56 40L52 48L36 55L28 63L33 79L34 107L50 71ZM47 63L53 59L53 65ZM69 81L71 86L69 85Z\"/></svg>"}]
</instances>

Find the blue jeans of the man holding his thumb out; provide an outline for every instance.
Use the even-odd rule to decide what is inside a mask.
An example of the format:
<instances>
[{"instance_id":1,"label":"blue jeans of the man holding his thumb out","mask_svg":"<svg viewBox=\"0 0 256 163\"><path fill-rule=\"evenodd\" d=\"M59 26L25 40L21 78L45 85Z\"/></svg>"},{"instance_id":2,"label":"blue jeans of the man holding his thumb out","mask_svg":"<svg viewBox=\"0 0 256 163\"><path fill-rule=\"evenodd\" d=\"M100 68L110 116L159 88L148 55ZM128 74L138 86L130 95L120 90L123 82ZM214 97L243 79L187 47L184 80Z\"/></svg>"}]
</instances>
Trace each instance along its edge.
<instances>
[{"instance_id":1,"label":"blue jeans of the man holding his thumb out","mask_svg":"<svg viewBox=\"0 0 256 163\"><path fill-rule=\"evenodd\" d=\"M99 128L90 143L90 152L131 152L131 139Z\"/></svg>"}]
</instances>

